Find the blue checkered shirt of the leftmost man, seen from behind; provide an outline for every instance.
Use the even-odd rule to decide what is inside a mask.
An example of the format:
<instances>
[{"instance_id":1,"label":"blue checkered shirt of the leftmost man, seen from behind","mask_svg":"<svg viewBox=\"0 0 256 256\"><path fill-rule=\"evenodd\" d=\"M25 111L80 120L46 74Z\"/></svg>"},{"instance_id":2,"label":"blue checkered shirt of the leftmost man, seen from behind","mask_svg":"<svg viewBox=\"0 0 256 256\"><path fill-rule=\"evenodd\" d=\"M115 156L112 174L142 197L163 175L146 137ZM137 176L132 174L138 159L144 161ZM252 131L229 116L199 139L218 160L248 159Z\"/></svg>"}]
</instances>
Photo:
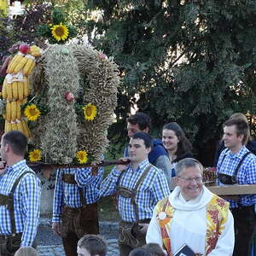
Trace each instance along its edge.
<instances>
[{"instance_id":1,"label":"blue checkered shirt of the leftmost man, seen from behind","mask_svg":"<svg viewBox=\"0 0 256 256\"><path fill-rule=\"evenodd\" d=\"M0 177L0 194L9 195L15 180L24 172L31 171L26 166L26 160L20 160L14 166L9 166ZM21 178L15 189L15 227L21 233L21 247L32 246L38 230L40 213L41 183L38 177L28 173ZM0 206L0 235L11 234L9 210Z\"/></svg>"}]
</instances>

